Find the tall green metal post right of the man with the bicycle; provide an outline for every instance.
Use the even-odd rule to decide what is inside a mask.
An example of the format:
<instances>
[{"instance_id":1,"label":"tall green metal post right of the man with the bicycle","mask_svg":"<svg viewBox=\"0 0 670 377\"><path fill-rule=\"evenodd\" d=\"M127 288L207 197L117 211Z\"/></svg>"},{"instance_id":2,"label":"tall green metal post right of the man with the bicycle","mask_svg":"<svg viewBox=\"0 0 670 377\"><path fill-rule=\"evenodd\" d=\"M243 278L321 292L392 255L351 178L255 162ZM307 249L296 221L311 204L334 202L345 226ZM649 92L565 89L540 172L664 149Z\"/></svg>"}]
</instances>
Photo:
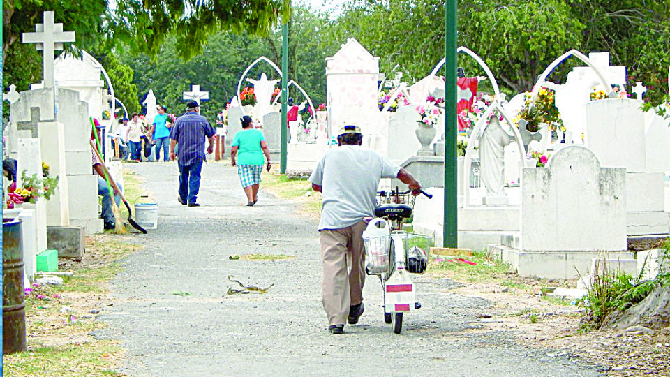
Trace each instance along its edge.
<instances>
[{"instance_id":1,"label":"tall green metal post right of the man with the bicycle","mask_svg":"<svg viewBox=\"0 0 670 377\"><path fill-rule=\"evenodd\" d=\"M456 168L456 50L457 0L447 0L445 13L445 218L442 243L458 247L458 171Z\"/></svg>"}]
</instances>

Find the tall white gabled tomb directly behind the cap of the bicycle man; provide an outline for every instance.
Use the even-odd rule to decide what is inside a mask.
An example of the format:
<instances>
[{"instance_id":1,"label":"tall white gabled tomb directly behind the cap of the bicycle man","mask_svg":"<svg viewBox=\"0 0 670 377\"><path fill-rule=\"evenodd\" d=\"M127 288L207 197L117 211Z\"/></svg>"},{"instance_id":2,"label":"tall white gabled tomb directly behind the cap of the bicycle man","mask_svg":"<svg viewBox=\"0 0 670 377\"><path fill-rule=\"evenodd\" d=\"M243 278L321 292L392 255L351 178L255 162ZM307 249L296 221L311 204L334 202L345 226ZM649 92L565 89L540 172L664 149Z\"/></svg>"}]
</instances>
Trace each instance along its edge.
<instances>
[{"instance_id":1,"label":"tall white gabled tomb directly behind the cap of the bicycle man","mask_svg":"<svg viewBox=\"0 0 670 377\"><path fill-rule=\"evenodd\" d=\"M379 116L378 78L379 58L373 57L354 38L349 38L333 57L326 58L329 135L336 133L342 121L351 118L361 126L363 135L371 134L374 125L368 122Z\"/></svg>"}]
</instances>

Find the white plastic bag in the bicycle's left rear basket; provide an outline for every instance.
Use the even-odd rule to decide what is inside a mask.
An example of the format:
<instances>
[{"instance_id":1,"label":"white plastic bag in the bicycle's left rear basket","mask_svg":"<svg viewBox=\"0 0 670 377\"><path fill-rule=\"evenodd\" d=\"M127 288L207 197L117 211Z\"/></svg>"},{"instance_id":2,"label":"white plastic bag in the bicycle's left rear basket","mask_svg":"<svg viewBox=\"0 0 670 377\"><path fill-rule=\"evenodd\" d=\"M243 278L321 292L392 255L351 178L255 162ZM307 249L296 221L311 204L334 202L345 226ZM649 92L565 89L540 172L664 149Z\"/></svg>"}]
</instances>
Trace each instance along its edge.
<instances>
[{"instance_id":1,"label":"white plastic bag in the bicycle's left rear basket","mask_svg":"<svg viewBox=\"0 0 670 377\"><path fill-rule=\"evenodd\" d=\"M379 217L372 219L363 231L365 261L368 274L380 274L389 269L391 226Z\"/></svg>"}]
</instances>

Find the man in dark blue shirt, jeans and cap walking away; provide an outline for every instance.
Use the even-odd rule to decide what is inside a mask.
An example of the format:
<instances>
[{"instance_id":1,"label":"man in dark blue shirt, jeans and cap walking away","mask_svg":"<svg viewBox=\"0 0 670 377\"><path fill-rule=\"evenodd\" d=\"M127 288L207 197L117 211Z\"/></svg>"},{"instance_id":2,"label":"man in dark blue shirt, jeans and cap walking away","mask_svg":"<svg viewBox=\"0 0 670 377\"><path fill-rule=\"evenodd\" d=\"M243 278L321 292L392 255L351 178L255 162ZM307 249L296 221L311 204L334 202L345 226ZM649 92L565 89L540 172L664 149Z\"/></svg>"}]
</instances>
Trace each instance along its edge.
<instances>
[{"instance_id":1,"label":"man in dark blue shirt, jeans and cap walking away","mask_svg":"<svg viewBox=\"0 0 670 377\"><path fill-rule=\"evenodd\" d=\"M186 103L186 112L177 118L170 130L170 161L174 161L174 147L179 145L179 197L177 200L188 207L198 207L200 172L204 154L204 140L209 140L207 154L214 150L214 128L198 114L200 105L195 101Z\"/></svg>"}]
</instances>

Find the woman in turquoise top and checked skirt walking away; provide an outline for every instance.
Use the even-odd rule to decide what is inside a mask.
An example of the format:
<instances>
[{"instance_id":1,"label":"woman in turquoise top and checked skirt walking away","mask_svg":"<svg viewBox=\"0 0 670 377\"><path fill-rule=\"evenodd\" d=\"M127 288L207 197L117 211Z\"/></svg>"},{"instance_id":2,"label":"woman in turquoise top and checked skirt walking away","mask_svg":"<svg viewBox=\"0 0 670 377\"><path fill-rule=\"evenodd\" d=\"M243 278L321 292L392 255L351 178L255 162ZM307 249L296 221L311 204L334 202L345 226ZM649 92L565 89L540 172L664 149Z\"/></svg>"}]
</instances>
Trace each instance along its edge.
<instances>
[{"instance_id":1,"label":"woman in turquoise top and checked skirt walking away","mask_svg":"<svg viewBox=\"0 0 670 377\"><path fill-rule=\"evenodd\" d=\"M266 168L270 170L272 161L270 151L267 149L265 136L260 130L253 128L251 117L245 115L239 119L242 122L242 130L237 131L232 138L230 149L230 163L237 165L239 182L244 188L248 202L246 205L252 207L258 202L258 188L260 188L260 172L263 170L263 155L267 159Z\"/></svg>"}]
</instances>

